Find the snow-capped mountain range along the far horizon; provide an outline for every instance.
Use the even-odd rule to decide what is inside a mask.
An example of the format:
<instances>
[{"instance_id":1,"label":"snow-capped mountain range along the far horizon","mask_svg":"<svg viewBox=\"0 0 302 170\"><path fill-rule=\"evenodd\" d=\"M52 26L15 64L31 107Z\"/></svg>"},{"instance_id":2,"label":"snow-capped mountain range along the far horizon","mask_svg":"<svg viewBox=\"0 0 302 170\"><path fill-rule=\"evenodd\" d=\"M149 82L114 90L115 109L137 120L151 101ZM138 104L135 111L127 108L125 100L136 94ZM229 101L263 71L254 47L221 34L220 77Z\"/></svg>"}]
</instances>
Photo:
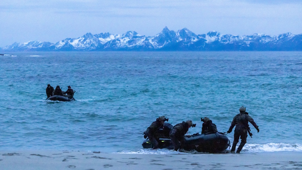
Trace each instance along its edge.
<instances>
[{"instance_id":1,"label":"snow-capped mountain range along the far horizon","mask_svg":"<svg viewBox=\"0 0 302 170\"><path fill-rule=\"evenodd\" d=\"M135 31L125 34L91 34L66 38L57 43L29 41L13 43L2 51L301 51L302 34L230 35L210 31L196 35L190 30L173 31L165 27L146 37Z\"/></svg>"}]
</instances>

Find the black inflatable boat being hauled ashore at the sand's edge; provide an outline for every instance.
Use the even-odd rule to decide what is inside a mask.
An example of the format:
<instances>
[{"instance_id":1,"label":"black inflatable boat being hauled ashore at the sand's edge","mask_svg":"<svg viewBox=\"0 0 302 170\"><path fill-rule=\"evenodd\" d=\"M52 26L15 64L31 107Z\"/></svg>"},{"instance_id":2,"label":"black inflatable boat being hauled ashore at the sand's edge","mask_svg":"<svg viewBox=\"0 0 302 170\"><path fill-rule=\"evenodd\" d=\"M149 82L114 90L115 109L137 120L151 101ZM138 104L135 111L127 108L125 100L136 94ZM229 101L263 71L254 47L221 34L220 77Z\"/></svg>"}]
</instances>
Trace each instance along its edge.
<instances>
[{"instance_id":1,"label":"black inflatable boat being hauled ashore at the sand's edge","mask_svg":"<svg viewBox=\"0 0 302 170\"><path fill-rule=\"evenodd\" d=\"M173 126L165 122L164 126L158 129L159 134L159 148L173 149L173 144L169 137L169 132ZM142 143L143 148L152 148L152 144L147 138ZM180 149L187 151L196 150L197 152L218 153L230 147L230 140L223 133L204 133L193 135L191 137L185 136L185 143Z\"/></svg>"}]
</instances>

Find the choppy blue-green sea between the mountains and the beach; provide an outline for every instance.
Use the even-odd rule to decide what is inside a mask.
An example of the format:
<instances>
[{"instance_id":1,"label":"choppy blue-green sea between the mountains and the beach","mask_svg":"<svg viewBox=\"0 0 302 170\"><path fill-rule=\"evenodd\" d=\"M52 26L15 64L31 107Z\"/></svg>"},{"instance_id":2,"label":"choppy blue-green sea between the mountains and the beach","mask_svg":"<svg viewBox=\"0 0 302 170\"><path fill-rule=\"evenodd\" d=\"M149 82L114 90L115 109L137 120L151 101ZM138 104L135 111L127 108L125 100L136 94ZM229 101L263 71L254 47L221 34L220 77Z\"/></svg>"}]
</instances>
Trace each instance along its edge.
<instances>
[{"instance_id":1,"label":"choppy blue-green sea between the mountains and the beach","mask_svg":"<svg viewBox=\"0 0 302 170\"><path fill-rule=\"evenodd\" d=\"M226 132L243 105L260 132L251 127L242 152L301 152L301 71L302 52L9 53L0 56L0 150L169 153L141 146L157 117L191 119L193 134L207 116ZM76 101L45 101L48 83L71 85Z\"/></svg>"}]
</instances>

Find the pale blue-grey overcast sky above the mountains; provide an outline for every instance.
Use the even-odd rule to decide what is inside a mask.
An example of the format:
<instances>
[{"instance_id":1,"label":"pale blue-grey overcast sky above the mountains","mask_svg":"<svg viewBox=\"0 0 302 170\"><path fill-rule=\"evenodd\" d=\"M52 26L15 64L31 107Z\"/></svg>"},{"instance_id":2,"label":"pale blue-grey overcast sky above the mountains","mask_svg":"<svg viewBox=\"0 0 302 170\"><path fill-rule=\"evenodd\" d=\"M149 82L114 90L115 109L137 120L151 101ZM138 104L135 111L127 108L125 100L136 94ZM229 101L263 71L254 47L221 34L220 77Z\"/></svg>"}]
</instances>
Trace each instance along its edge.
<instances>
[{"instance_id":1,"label":"pale blue-grey overcast sky above the mountains","mask_svg":"<svg viewBox=\"0 0 302 170\"><path fill-rule=\"evenodd\" d=\"M300 0L0 0L0 47L88 32L154 36L165 26L195 34L302 34L301 20Z\"/></svg>"}]
</instances>

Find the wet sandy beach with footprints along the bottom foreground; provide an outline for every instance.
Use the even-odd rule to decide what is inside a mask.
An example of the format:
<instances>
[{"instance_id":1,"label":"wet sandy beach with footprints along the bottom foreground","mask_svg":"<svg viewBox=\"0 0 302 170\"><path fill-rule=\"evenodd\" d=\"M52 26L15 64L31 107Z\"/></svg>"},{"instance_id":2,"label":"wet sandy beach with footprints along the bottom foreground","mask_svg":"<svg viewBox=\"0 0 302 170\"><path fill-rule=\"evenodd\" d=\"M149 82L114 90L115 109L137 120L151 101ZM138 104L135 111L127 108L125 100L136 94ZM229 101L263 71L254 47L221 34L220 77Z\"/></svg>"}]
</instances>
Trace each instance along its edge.
<instances>
[{"instance_id":1,"label":"wet sandy beach with footprints along the bottom foreground","mask_svg":"<svg viewBox=\"0 0 302 170\"><path fill-rule=\"evenodd\" d=\"M3 170L302 169L302 152L159 155L48 150L0 151L0 167Z\"/></svg>"}]
</instances>

